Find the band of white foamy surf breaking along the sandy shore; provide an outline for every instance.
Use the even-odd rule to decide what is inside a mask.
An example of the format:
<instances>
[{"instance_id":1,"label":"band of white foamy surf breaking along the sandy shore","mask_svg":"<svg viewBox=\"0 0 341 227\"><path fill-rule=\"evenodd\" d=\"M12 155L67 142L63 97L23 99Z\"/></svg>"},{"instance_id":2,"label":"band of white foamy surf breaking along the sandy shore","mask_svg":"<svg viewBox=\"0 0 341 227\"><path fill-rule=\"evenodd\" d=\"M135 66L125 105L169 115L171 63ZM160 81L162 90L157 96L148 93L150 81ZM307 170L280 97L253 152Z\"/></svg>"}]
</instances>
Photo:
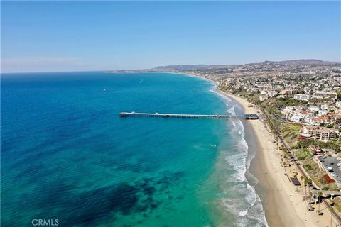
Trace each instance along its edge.
<instances>
[{"instance_id":1,"label":"band of white foamy surf breaking along the sandy shore","mask_svg":"<svg viewBox=\"0 0 341 227\"><path fill-rule=\"evenodd\" d=\"M235 110L238 105L232 99L217 92L216 88L210 91L226 101L228 114L236 114ZM237 143L229 149L229 155L225 157L225 160L235 172L227 179L229 187L224 192L226 196L222 199L221 204L234 215L237 226L268 226L261 199L256 194L254 186L250 185L245 177L254 155L248 155L249 147L244 138L243 123L240 120L232 120L228 123L233 126L230 127L230 135L237 140ZM251 179L252 182L258 182L252 175Z\"/></svg>"}]
</instances>

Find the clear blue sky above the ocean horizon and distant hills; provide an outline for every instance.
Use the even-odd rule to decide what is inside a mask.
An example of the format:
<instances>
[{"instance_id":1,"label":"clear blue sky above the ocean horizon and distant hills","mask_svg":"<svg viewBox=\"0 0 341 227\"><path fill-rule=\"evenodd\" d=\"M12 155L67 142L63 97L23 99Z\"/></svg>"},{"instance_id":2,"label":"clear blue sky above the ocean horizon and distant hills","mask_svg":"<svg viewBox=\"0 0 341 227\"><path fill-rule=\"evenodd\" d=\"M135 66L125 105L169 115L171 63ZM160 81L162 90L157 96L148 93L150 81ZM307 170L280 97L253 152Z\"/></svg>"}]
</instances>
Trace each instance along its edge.
<instances>
[{"instance_id":1,"label":"clear blue sky above the ocean horizon and distant hills","mask_svg":"<svg viewBox=\"0 0 341 227\"><path fill-rule=\"evenodd\" d=\"M1 1L1 72L341 61L341 1Z\"/></svg>"}]
</instances>

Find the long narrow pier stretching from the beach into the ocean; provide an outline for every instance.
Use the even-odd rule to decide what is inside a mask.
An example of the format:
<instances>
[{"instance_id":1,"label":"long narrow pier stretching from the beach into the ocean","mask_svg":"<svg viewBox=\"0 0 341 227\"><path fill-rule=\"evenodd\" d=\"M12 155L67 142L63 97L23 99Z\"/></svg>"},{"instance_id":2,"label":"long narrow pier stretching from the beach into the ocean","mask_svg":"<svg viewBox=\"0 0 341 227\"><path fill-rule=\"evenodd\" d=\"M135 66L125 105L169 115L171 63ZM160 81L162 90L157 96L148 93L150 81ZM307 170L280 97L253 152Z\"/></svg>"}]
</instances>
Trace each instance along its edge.
<instances>
[{"instance_id":1,"label":"long narrow pier stretching from the beach into the ocean","mask_svg":"<svg viewBox=\"0 0 341 227\"><path fill-rule=\"evenodd\" d=\"M159 114L159 113L136 113L136 112L121 112L121 117L135 116L135 117L154 117L154 118L215 118L215 119L259 119L257 114L243 114L243 115L224 115L224 114Z\"/></svg>"}]
</instances>

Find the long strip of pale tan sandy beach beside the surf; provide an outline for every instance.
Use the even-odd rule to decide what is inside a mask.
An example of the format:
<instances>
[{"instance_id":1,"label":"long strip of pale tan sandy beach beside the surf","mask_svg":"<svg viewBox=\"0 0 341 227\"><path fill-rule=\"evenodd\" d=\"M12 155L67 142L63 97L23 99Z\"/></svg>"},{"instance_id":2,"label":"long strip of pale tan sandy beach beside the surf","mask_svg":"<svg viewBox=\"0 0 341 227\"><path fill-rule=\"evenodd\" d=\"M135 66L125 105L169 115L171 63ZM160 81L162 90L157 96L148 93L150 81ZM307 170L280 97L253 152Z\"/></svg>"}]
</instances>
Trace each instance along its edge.
<instances>
[{"instance_id":1,"label":"long strip of pale tan sandy beach beside the surf","mask_svg":"<svg viewBox=\"0 0 341 227\"><path fill-rule=\"evenodd\" d=\"M227 92L220 93L237 101L246 114L256 113L255 107L250 107L250 103L234 94ZM318 216L315 211L308 211L305 201L303 201L303 189L299 189L289 181L288 176L293 174L294 167L287 167L286 170L281 166L281 155L274 135L270 133L262 121L247 121L247 126L251 130L257 141L256 157L251 162L250 172L259 179L263 206L266 213L266 220L269 226L330 226L330 212L325 209L323 216ZM249 145L250 146L250 145ZM297 171L298 172L298 171ZM300 175L298 175L298 179ZM259 193L261 194L261 193ZM265 198L262 198L265 197ZM323 204L320 205L324 209ZM332 226L335 226L333 220Z\"/></svg>"}]
</instances>

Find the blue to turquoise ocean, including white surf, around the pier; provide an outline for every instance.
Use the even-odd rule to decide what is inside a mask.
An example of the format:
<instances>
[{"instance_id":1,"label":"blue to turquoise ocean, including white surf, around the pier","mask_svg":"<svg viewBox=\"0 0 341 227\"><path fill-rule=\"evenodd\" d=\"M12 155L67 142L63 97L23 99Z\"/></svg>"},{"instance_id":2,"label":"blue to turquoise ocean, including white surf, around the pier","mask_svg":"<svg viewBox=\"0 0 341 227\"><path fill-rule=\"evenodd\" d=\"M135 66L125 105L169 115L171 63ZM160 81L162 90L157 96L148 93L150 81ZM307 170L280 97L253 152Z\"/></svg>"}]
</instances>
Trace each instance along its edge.
<instances>
[{"instance_id":1,"label":"blue to turquoise ocean, including white surf, around the pier","mask_svg":"<svg viewBox=\"0 0 341 227\"><path fill-rule=\"evenodd\" d=\"M241 111L213 90L180 74L1 74L1 225L266 226L241 121L118 116Z\"/></svg>"}]
</instances>

